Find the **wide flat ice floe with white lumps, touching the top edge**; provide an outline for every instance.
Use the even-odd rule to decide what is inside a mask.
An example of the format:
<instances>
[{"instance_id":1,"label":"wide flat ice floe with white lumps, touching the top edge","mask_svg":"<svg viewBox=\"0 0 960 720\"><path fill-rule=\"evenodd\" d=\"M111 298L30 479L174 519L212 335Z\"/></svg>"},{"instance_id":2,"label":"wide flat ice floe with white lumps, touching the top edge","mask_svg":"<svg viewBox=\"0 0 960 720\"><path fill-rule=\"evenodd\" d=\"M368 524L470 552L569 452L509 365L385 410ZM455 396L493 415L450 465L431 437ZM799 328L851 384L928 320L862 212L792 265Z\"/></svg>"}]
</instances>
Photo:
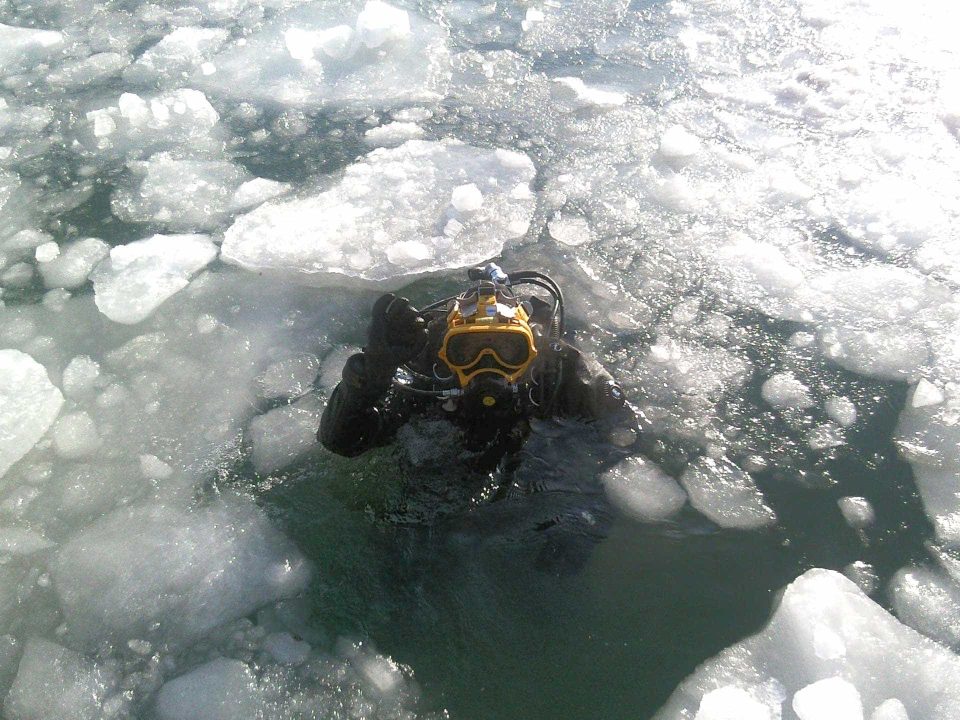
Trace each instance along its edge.
<instances>
[{"instance_id":1,"label":"wide flat ice floe with white lumps, touching the top edge","mask_svg":"<svg viewBox=\"0 0 960 720\"><path fill-rule=\"evenodd\" d=\"M212 94L288 107L353 112L441 99L446 33L380 0L305 4L227 45L193 81Z\"/></svg>"}]
</instances>

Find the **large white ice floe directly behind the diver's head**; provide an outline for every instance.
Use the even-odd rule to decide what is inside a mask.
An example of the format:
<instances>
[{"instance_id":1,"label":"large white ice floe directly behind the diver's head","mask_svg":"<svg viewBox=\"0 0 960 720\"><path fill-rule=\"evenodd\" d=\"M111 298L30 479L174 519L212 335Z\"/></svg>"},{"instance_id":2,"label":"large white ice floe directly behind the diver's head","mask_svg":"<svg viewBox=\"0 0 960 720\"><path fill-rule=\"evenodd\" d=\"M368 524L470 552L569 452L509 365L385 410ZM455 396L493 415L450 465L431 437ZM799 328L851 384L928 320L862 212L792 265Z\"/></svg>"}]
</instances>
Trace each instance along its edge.
<instances>
[{"instance_id":1,"label":"large white ice floe directly behind the diver's head","mask_svg":"<svg viewBox=\"0 0 960 720\"><path fill-rule=\"evenodd\" d=\"M329 190L239 218L221 257L308 285L400 287L494 257L523 235L533 176L533 163L516 152L411 140L374 150Z\"/></svg>"}]
</instances>

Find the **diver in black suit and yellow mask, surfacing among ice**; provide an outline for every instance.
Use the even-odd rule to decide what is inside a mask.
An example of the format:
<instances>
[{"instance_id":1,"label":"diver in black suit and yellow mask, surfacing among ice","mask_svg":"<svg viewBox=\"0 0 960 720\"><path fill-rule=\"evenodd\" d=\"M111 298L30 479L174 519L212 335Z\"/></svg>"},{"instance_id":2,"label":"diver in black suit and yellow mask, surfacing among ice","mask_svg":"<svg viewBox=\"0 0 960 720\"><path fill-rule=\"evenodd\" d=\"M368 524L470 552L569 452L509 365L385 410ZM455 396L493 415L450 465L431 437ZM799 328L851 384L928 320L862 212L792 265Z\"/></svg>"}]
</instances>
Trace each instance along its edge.
<instances>
[{"instance_id":1,"label":"diver in black suit and yellow mask, surfacing among ice","mask_svg":"<svg viewBox=\"0 0 960 720\"><path fill-rule=\"evenodd\" d=\"M637 418L623 390L563 339L563 294L535 271L473 268L463 293L417 310L388 293L373 307L363 352L350 356L317 438L353 457L390 443L414 417L446 418L490 472L516 454L533 419L570 418L626 447ZM545 291L550 300L522 288Z\"/></svg>"}]
</instances>

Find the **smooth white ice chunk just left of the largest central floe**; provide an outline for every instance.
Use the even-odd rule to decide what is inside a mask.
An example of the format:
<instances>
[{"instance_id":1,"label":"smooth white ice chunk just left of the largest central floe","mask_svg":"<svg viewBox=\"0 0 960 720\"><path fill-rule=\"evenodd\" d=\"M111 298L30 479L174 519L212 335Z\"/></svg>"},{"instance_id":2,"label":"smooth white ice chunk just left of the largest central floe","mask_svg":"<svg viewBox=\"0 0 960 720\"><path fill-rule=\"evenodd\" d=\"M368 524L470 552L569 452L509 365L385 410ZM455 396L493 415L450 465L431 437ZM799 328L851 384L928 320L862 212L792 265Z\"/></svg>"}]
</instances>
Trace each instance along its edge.
<instances>
[{"instance_id":1,"label":"smooth white ice chunk just left of the largest central floe","mask_svg":"<svg viewBox=\"0 0 960 720\"><path fill-rule=\"evenodd\" d=\"M119 245L93 273L97 307L114 322L138 323L216 256L206 235L154 235Z\"/></svg>"}]
</instances>

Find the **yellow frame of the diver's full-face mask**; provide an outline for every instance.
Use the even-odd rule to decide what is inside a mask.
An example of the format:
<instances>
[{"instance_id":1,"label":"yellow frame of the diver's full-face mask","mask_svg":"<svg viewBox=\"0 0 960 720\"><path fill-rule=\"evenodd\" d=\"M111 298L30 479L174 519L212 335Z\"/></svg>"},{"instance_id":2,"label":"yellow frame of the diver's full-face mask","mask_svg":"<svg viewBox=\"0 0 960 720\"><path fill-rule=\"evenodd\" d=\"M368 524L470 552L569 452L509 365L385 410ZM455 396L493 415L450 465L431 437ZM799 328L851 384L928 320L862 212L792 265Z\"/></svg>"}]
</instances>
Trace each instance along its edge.
<instances>
[{"instance_id":1,"label":"yellow frame of the diver's full-face mask","mask_svg":"<svg viewBox=\"0 0 960 720\"><path fill-rule=\"evenodd\" d=\"M509 293L509 290L507 291ZM527 309L512 294L503 293L499 288L484 287L469 292L453 301L447 313L447 332L437 355L457 376L460 387L466 387L474 377L481 373L495 373L515 383L530 367L537 357L537 347L530 328L530 316ZM503 302L506 300L507 302ZM507 304L512 301L512 304ZM508 340L515 348L526 352L521 360L512 362L512 358L503 357L487 341L492 335L501 335L502 341ZM473 336L473 337L468 337ZM472 353L468 361L456 362L455 352L451 352L451 343L468 342L473 339L482 347ZM451 357L453 355L454 357ZM491 363L485 358L492 358Z\"/></svg>"}]
</instances>

